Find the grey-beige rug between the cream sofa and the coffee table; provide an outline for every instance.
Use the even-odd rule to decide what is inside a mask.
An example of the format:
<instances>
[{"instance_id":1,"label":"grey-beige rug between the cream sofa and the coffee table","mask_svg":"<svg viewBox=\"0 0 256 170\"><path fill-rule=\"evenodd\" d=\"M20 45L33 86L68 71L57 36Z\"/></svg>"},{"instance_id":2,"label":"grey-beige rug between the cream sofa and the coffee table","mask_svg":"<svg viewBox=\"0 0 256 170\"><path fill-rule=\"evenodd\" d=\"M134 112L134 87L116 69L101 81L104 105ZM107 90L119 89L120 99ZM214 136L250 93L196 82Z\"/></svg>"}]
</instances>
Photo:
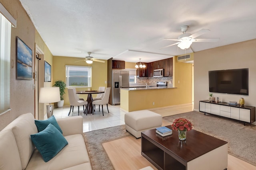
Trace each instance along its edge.
<instances>
[{"instance_id":1,"label":"grey-beige rug between the cream sofa and the coffee table","mask_svg":"<svg viewBox=\"0 0 256 170\"><path fill-rule=\"evenodd\" d=\"M102 143L131 136L125 126L115 126L84 133L89 158L93 170L113 170L113 166L106 154Z\"/></svg>"}]
</instances>

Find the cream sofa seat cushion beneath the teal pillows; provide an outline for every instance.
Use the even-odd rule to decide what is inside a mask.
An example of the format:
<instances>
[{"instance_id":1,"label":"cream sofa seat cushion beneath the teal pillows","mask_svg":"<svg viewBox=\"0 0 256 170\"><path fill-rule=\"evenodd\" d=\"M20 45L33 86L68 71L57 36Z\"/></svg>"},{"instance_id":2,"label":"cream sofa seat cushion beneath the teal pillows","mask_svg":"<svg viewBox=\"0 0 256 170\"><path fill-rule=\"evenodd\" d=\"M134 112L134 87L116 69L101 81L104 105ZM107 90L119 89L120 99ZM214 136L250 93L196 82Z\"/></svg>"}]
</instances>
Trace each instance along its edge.
<instances>
[{"instance_id":1,"label":"cream sofa seat cushion beneath the teal pillows","mask_svg":"<svg viewBox=\"0 0 256 170\"><path fill-rule=\"evenodd\" d=\"M54 158L44 162L42 156L35 149L26 170L62 170L89 162L90 159L81 134L65 136L68 145L64 147Z\"/></svg>"}]
</instances>

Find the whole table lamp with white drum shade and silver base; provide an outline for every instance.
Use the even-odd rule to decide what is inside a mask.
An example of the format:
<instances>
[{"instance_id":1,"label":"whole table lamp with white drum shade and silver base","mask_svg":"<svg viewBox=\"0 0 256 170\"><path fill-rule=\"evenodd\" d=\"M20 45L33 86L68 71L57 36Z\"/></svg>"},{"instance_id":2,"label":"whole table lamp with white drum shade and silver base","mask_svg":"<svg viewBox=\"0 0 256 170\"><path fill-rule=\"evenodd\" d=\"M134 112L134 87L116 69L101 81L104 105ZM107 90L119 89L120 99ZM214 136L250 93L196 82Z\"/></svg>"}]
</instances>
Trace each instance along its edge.
<instances>
[{"instance_id":1,"label":"whole table lamp with white drum shade and silver base","mask_svg":"<svg viewBox=\"0 0 256 170\"><path fill-rule=\"evenodd\" d=\"M54 105L52 103L60 101L60 88L59 87L41 87L39 103L49 103L46 105L47 118L53 114Z\"/></svg>"}]
</instances>

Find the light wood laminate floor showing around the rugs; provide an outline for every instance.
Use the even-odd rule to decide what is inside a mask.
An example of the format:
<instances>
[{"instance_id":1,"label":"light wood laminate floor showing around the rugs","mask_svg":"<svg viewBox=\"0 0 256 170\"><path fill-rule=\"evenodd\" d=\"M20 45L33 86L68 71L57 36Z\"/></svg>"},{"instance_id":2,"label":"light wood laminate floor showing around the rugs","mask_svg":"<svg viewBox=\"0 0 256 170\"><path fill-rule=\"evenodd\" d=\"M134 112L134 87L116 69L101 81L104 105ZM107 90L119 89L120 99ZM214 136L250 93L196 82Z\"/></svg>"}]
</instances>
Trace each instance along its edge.
<instances>
[{"instance_id":1,"label":"light wood laminate floor showing around the rugs","mask_svg":"<svg viewBox=\"0 0 256 170\"><path fill-rule=\"evenodd\" d=\"M185 105L155 109L153 111L161 114L162 116L168 116L192 110L192 105ZM163 120L163 126L170 124L170 122ZM144 158L144 156L141 155L141 139L129 136L109 141L102 145L116 170L139 170L146 166L151 166L154 170L157 170L150 162L148 162L148 160L146 160L146 158ZM230 154L228 154L227 168L228 170L256 170L256 166Z\"/></svg>"}]
</instances>

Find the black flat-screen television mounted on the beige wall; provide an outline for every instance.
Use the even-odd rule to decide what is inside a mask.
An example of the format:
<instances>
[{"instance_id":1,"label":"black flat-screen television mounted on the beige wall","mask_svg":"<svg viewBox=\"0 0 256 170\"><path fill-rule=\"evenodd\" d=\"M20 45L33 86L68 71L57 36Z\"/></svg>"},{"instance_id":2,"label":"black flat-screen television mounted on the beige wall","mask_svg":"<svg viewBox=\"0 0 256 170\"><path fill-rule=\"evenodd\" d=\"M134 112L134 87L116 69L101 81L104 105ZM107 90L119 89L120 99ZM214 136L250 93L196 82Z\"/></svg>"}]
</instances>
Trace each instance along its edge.
<instances>
[{"instance_id":1,"label":"black flat-screen television mounted on the beige wall","mask_svg":"<svg viewBox=\"0 0 256 170\"><path fill-rule=\"evenodd\" d=\"M249 68L209 71L209 91L248 95Z\"/></svg>"}]
</instances>

